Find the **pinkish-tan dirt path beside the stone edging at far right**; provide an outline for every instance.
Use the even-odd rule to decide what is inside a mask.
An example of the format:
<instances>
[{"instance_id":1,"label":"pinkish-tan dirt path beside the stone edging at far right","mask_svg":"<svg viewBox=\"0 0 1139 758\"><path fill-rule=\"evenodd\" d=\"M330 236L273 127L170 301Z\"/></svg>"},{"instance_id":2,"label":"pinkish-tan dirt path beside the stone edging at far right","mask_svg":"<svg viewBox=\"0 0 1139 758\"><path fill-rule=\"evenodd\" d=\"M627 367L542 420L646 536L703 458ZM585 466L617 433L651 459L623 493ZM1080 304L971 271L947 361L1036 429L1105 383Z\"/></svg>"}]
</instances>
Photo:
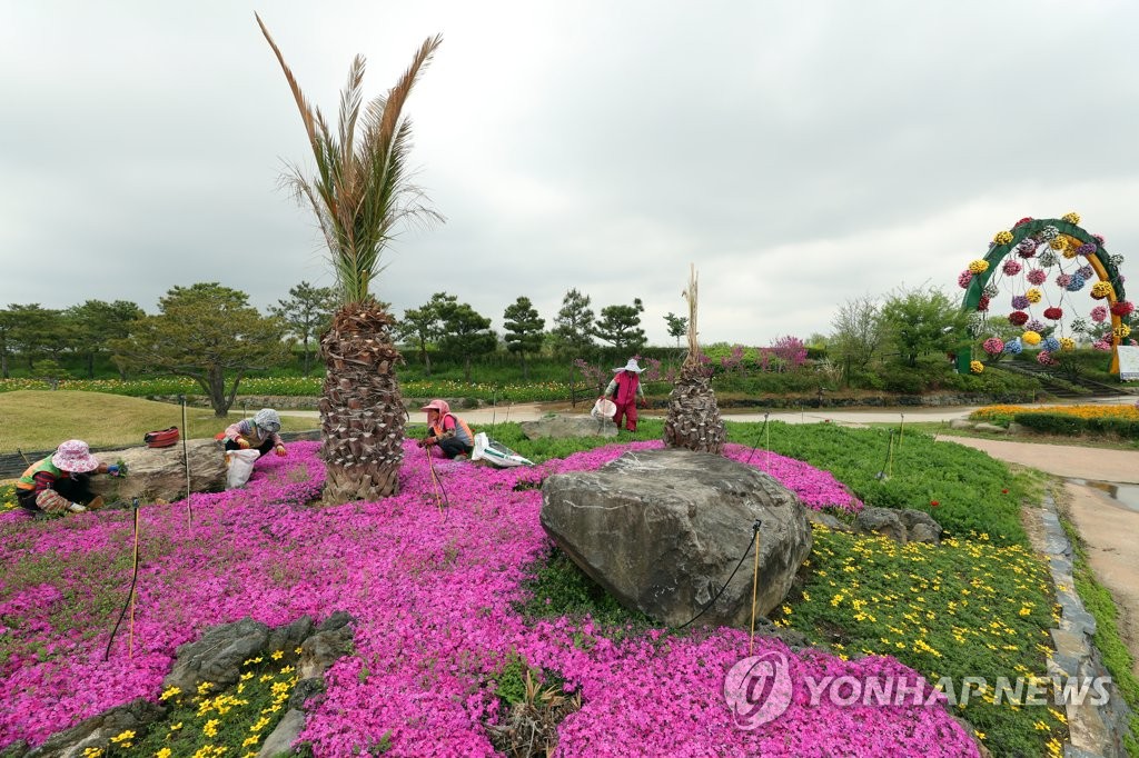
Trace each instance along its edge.
<instances>
[{"instance_id":1,"label":"pinkish-tan dirt path beside the stone edging at far right","mask_svg":"<svg viewBox=\"0 0 1139 758\"><path fill-rule=\"evenodd\" d=\"M1030 465L1060 477L1114 481L1139 481L1139 452L1034 445L999 439L939 437L968 445L992 458ZM1120 609L1120 634L1136 662L1139 676L1139 511L1121 505L1101 489L1066 483L1064 501L1087 545L1088 562Z\"/></svg>"}]
</instances>

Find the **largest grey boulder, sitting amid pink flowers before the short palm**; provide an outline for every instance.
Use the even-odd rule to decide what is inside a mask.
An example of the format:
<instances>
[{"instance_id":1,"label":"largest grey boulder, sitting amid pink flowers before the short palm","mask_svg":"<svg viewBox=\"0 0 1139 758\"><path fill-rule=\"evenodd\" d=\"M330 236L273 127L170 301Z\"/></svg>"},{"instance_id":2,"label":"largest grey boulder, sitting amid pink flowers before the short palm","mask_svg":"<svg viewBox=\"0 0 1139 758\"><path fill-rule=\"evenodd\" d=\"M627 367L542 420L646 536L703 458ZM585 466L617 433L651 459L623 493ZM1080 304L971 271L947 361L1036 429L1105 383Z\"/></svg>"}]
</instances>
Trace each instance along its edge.
<instances>
[{"instance_id":1,"label":"largest grey boulder, sitting amid pink flowers before the short palm","mask_svg":"<svg viewBox=\"0 0 1139 758\"><path fill-rule=\"evenodd\" d=\"M787 596L811 552L795 494L767 473L711 453L629 452L597 471L542 485L541 524L585 574L628 608L670 626L715 598L760 529L756 613ZM699 619L747 626L754 554Z\"/></svg>"}]
</instances>

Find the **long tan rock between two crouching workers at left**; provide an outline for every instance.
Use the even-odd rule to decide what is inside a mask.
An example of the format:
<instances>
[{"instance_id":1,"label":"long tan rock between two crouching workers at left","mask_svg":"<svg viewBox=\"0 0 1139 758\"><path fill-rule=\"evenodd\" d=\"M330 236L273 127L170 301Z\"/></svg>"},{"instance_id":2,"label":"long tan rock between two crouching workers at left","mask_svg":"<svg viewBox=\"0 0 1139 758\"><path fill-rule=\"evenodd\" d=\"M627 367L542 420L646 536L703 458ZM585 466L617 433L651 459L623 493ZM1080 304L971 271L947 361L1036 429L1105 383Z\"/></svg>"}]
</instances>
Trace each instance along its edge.
<instances>
[{"instance_id":1,"label":"long tan rock between two crouching workers at left","mask_svg":"<svg viewBox=\"0 0 1139 758\"><path fill-rule=\"evenodd\" d=\"M221 492L226 488L226 456L213 439L189 439L186 454L190 463L190 489ZM186 464L181 443L173 447L129 447L95 453L101 463L126 463L124 477L91 477L91 491L108 502L141 503L158 500L173 502L186 497Z\"/></svg>"}]
</instances>

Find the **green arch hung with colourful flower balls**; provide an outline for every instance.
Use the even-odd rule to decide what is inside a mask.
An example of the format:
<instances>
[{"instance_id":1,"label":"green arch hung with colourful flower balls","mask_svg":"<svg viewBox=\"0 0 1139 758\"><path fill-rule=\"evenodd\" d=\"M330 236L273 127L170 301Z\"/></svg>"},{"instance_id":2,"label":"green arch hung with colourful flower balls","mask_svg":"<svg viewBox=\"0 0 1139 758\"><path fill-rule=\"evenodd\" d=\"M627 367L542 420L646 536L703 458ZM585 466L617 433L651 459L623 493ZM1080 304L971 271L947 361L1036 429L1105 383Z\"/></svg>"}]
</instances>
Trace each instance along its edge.
<instances>
[{"instance_id":1,"label":"green arch hung with colourful flower balls","mask_svg":"<svg viewBox=\"0 0 1139 758\"><path fill-rule=\"evenodd\" d=\"M997 280L1009 280L1023 272L1025 281L1021 283L1017 280L1013 285L1013 312L1008 314L1008 320L1025 331L1009 344L995 336L985 339L983 349L986 353L1016 353L1023 344L1040 345L1040 362L1048 363L1051 360L1050 353L1072 349L1075 345L1072 335L1090 330L1082 318L1064 320L1064 308L1060 306L1066 304L1064 300L1068 293L1083 290L1084 285L1095 277L1096 282L1088 291L1092 298L1105 300L1107 306L1093 308L1092 320L1101 322L1109 314L1112 324L1111 331L1104 333L1095 346L1112 352L1111 371L1118 373L1120 360L1115 348L1130 336L1130 314L1134 310L1126 300L1123 277L1120 274L1123 256L1109 255L1104 247L1104 238L1087 232L1079 224L1080 216L1076 213L1065 214L1060 219L1021 219L1011 230L997 232L984 258L969 263L969 267L958 277L958 285L965 289L961 307L973 316L970 331L973 337L982 338L989 331L989 313L995 310L992 300L1000 295ZM1049 279L1060 293L1055 303L1044 300L1044 293L1040 287ZM1041 339L1039 332L1043 322L1034 318L1035 306L1040 306L1041 315L1052 322L1046 328L1054 331L1055 336ZM978 373L984 370L983 364L973 359L970 351L958 352L956 360L960 373Z\"/></svg>"}]
</instances>

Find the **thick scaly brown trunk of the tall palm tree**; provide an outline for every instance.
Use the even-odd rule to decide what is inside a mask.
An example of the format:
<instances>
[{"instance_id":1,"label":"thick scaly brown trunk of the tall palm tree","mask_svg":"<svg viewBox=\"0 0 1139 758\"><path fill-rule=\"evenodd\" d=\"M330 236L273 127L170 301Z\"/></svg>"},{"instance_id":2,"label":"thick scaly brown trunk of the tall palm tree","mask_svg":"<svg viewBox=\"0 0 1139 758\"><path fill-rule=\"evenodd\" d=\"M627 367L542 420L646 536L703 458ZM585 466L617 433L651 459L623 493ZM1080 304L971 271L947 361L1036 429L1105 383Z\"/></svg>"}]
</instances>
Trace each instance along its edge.
<instances>
[{"instance_id":1,"label":"thick scaly brown trunk of the tall palm tree","mask_svg":"<svg viewBox=\"0 0 1139 758\"><path fill-rule=\"evenodd\" d=\"M392 323L375 302L350 303L320 340L328 369L320 399L326 504L399 492L407 412L395 378L402 357L392 344Z\"/></svg>"}]
</instances>

